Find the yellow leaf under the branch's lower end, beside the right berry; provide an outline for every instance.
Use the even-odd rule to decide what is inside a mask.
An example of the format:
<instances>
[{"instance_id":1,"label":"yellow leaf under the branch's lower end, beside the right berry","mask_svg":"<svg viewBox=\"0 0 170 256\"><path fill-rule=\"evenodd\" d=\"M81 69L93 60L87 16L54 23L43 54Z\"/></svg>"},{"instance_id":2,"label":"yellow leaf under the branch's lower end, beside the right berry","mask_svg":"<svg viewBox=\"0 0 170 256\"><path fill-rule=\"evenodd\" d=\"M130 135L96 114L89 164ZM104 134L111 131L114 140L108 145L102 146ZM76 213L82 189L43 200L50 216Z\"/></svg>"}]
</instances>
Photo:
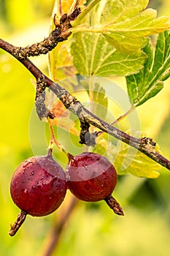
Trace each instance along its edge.
<instances>
[{"instance_id":1,"label":"yellow leaf under the branch's lower end, beside the right berry","mask_svg":"<svg viewBox=\"0 0 170 256\"><path fill-rule=\"evenodd\" d=\"M161 165L136 148L132 148L121 141L116 143L112 141L111 143L106 134L98 136L96 141L94 151L98 154L104 154L115 166L118 175L131 173L137 177L158 178L158 170L161 169ZM155 150L158 151L158 146Z\"/></svg>"}]
</instances>

